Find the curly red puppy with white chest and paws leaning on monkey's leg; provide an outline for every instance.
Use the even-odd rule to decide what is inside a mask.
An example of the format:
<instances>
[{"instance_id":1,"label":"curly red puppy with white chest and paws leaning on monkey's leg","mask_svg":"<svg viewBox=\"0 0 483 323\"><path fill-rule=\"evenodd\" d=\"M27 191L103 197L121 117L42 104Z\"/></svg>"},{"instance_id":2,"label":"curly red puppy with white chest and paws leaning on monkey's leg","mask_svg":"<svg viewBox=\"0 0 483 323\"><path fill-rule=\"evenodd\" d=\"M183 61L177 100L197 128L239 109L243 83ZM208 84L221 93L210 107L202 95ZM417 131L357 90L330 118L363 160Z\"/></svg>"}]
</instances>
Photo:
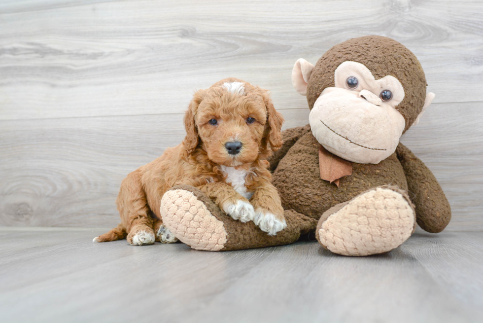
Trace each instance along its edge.
<instances>
[{"instance_id":1,"label":"curly red puppy with white chest and paws leaning on monkey's leg","mask_svg":"<svg viewBox=\"0 0 483 323\"><path fill-rule=\"evenodd\" d=\"M275 235L286 222L265 158L282 144L282 123L268 92L242 80L227 78L196 92L184 117L186 138L122 181L121 223L94 241L176 242L159 208L177 184L198 187L234 219Z\"/></svg>"}]
</instances>

